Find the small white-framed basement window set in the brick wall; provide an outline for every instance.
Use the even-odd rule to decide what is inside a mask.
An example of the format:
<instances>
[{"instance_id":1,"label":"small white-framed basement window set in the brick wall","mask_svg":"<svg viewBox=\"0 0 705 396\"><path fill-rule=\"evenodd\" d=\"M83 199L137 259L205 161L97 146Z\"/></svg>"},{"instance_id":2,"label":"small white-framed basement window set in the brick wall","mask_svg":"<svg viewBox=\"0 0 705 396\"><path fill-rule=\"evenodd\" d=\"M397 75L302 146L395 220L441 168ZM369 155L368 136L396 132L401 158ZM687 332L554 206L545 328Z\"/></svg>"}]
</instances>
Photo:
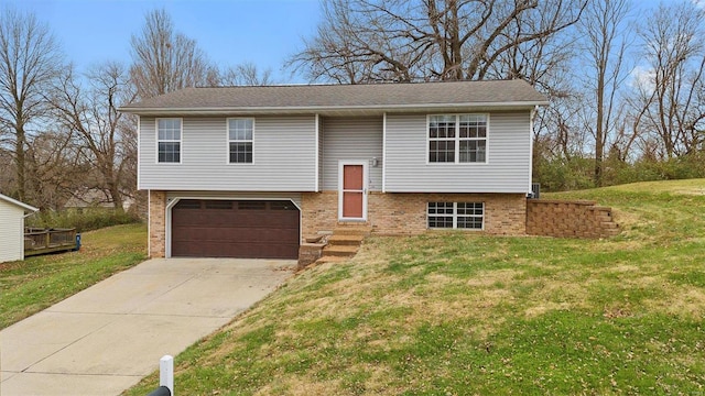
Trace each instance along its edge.
<instances>
[{"instance_id":1,"label":"small white-framed basement window set in the brick wall","mask_svg":"<svg viewBox=\"0 0 705 396\"><path fill-rule=\"evenodd\" d=\"M484 202L429 202L426 215L430 229L485 228Z\"/></svg>"}]
</instances>

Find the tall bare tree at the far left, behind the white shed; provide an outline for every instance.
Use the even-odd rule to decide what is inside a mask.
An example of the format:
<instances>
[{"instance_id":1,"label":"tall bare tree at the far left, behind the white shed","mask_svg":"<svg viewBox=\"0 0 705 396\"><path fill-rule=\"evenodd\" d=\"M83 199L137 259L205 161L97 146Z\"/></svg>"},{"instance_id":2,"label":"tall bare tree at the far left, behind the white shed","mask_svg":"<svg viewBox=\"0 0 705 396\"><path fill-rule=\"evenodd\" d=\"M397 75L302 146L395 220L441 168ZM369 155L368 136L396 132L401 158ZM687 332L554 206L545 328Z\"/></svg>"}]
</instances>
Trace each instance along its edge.
<instances>
[{"instance_id":1,"label":"tall bare tree at the far left, behind the white shed","mask_svg":"<svg viewBox=\"0 0 705 396\"><path fill-rule=\"evenodd\" d=\"M33 124L47 110L45 95L62 69L63 55L46 24L32 13L0 13L0 129L12 145L19 199L26 196L25 151Z\"/></svg>"}]
</instances>

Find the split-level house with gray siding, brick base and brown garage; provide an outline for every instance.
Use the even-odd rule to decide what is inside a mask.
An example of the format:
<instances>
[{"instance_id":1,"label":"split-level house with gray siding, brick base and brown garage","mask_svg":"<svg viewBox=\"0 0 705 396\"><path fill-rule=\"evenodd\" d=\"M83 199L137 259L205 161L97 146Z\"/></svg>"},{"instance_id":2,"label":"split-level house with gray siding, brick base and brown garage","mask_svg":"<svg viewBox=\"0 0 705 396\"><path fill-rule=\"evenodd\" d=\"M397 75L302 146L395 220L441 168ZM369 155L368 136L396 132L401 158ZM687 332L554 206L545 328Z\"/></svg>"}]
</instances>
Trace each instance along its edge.
<instances>
[{"instance_id":1,"label":"split-level house with gray siding, brick base and brown garage","mask_svg":"<svg viewBox=\"0 0 705 396\"><path fill-rule=\"evenodd\" d=\"M341 223L525 233L522 80L187 88L139 116L152 256L295 258Z\"/></svg>"}]
</instances>

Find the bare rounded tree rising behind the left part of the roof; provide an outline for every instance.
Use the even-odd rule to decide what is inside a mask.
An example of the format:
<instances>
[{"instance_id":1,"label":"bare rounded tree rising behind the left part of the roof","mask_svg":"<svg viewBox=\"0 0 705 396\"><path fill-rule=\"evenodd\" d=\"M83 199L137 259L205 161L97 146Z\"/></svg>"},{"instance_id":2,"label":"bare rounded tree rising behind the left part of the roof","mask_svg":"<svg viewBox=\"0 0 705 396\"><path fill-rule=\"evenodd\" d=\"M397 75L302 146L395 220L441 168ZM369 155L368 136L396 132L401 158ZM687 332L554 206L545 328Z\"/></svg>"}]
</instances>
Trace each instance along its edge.
<instances>
[{"instance_id":1,"label":"bare rounded tree rising behind the left part of the roof","mask_svg":"<svg viewBox=\"0 0 705 396\"><path fill-rule=\"evenodd\" d=\"M145 15L140 35L132 35L130 75L140 98L185 87L213 86L218 72L196 41L174 30L164 9Z\"/></svg>"}]
</instances>

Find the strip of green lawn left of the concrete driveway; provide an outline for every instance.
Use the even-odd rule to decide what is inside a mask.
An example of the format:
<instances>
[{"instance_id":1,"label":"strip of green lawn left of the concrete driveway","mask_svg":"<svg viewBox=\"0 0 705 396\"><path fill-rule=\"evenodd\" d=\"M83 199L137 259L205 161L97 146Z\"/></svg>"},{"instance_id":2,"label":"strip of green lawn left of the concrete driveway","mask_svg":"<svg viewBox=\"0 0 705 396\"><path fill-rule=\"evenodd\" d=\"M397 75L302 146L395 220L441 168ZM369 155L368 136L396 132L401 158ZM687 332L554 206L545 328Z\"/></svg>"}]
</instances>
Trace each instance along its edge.
<instances>
[{"instance_id":1,"label":"strip of green lawn left of the concrete driveway","mask_svg":"<svg viewBox=\"0 0 705 396\"><path fill-rule=\"evenodd\" d=\"M0 329L147 258L147 227L109 227L82 234L78 252L0 264Z\"/></svg>"}]
</instances>

